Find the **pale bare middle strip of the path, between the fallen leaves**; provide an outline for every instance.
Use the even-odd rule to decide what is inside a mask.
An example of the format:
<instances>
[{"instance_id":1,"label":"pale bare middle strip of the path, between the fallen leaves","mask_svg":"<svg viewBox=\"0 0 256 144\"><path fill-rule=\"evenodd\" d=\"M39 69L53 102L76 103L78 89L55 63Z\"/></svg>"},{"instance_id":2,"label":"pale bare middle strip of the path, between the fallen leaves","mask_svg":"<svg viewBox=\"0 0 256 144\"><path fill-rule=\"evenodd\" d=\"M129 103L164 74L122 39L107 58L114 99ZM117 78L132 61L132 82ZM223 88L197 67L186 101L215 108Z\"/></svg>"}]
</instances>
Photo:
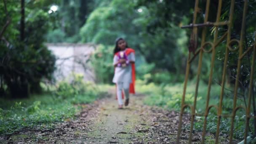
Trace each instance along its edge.
<instances>
[{"instance_id":1,"label":"pale bare middle strip of the path, between the fallen leaves","mask_svg":"<svg viewBox=\"0 0 256 144\"><path fill-rule=\"evenodd\" d=\"M130 105L117 109L117 101L113 98L104 101L101 112L92 133L88 133L88 143L129 144L143 135L147 128L147 120L141 112L141 98L131 99ZM146 112L144 112L146 114ZM147 114L146 114L147 115ZM138 128L141 126L141 133Z\"/></svg>"}]
</instances>

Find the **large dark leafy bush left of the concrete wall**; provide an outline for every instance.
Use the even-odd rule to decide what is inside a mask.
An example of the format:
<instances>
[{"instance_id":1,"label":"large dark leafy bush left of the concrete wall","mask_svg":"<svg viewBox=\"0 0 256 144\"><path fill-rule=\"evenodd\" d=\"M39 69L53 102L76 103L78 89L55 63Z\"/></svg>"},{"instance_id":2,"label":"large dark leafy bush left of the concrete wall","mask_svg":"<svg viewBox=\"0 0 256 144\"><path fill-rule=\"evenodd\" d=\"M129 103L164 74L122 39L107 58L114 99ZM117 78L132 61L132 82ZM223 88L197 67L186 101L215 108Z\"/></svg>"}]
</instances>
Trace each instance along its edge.
<instances>
[{"instance_id":1,"label":"large dark leafy bush left of the concrete wall","mask_svg":"<svg viewBox=\"0 0 256 144\"><path fill-rule=\"evenodd\" d=\"M33 4L41 5L37 2ZM4 96L10 94L12 97L26 97L29 93L40 92L40 81L43 78L51 80L55 69L56 58L43 45L50 26L50 16L47 11L30 6L31 3L26 3L24 41L21 41L20 3L6 2L11 24L0 40L0 85L1 91L5 92ZM0 9L5 10L3 3ZM5 11L0 13L2 15ZM6 19L7 15L0 18L1 25Z\"/></svg>"}]
</instances>

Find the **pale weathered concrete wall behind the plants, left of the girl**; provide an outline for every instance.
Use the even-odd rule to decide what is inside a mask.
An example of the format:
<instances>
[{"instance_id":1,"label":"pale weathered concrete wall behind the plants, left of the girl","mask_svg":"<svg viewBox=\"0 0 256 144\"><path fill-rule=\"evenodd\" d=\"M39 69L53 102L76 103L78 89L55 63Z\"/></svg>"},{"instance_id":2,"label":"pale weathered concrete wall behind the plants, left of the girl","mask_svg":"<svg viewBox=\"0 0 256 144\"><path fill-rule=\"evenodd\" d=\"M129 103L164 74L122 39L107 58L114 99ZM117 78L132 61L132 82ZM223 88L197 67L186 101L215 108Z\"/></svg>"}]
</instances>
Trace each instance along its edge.
<instances>
[{"instance_id":1,"label":"pale weathered concrete wall behind the plants, left of the girl","mask_svg":"<svg viewBox=\"0 0 256 144\"><path fill-rule=\"evenodd\" d=\"M72 44L72 43L47 43L48 49L55 54L56 71L54 76L57 80L69 77L72 72L83 74L85 81L93 81L95 75L86 63L95 50L93 44Z\"/></svg>"}]
</instances>

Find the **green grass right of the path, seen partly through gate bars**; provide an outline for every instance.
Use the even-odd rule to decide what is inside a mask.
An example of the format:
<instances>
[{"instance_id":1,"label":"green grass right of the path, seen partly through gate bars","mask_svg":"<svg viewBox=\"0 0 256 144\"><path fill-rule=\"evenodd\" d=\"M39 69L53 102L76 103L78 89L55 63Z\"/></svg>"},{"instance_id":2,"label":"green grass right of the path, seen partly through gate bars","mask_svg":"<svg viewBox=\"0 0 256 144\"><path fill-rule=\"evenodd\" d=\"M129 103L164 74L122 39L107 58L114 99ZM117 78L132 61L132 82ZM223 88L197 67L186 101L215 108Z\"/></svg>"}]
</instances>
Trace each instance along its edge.
<instances>
[{"instance_id":1,"label":"green grass right of the path, seen partly through gate bars","mask_svg":"<svg viewBox=\"0 0 256 144\"><path fill-rule=\"evenodd\" d=\"M181 100L183 95L183 83L172 84L172 85L155 85L154 83L146 84L143 81L139 81L137 84L137 91L141 93L147 93L147 96L144 100L144 104L147 105L156 105L159 107L163 107L169 110L180 111L181 109ZM229 88L232 90L232 88ZM196 112L200 115L204 115L206 101L207 101L207 91L208 85L200 82L197 94L196 101ZM209 105L219 106L219 95L220 95L221 87L219 85L213 84L211 85L210 92L210 101ZM228 97L227 95L232 95L230 91L224 91L224 99L222 102L222 114L230 115L232 113L233 108L233 99L232 97ZM195 83L188 83L186 96L185 96L185 104L193 105L195 100ZM237 99L237 106L245 105L242 99ZM186 109L185 112L190 113L190 109ZM216 133L216 123L217 123L217 110L215 108L211 108L208 118L207 118L207 127L206 130L210 133ZM245 112L242 109L237 111L237 116L235 117L235 125L234 125L234 138L235 139L243 139L243 134L245 130ZM203 116L197 116L194 124L194 129L196 131L203 130ZM220 131L223 134L229 135L230 132L231 121L230 118L221 119ZM188 125L189 126L189 125ZM251 121L251 129L253 129L253 124ZM189 127L187 128L189 130ZM253 132L252 132L253 133ZM250 133L251 134L251 133Z\"/></svg>"}]
</instances>

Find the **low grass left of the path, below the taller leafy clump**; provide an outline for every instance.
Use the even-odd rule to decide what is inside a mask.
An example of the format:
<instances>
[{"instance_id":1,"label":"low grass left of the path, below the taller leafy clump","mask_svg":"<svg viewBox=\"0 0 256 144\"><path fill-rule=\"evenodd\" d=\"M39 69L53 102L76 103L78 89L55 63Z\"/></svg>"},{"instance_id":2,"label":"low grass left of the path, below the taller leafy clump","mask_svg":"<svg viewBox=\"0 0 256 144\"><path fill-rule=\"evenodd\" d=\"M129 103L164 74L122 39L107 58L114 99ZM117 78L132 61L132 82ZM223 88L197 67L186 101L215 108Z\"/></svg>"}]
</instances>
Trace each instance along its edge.
<instances>
[{"instance_id":1,"label":"low grass left of the path, below the taller leafy clump","mask_svg":"<svg viewBox=\"0 0 256 144\"><path fill-rule=\"evenodd\" d=\"M51 129L79 112L75 104L90 103L98 96L77 95L67 99L53 95L35 95L29 99L8 101L1 99L0 134L10 134L24 128ZM3 107L4 106L4 107Z\"/></svg>"}]
</instances>

